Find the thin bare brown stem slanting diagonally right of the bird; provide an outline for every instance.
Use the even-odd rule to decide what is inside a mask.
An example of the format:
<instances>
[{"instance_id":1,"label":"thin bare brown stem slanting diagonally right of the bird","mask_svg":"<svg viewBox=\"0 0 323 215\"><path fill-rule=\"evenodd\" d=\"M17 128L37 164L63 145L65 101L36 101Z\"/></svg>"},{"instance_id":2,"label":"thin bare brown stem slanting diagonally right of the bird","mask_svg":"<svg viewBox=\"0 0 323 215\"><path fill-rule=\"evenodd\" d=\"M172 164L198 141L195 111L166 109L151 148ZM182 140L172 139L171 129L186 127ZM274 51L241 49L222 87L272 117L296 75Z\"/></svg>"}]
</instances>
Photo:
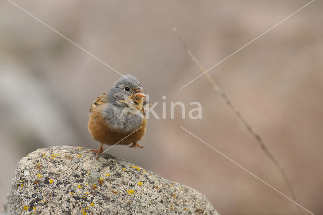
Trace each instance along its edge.
<instances>
[{"instance_id":1,"label":"thin bare brown stem slanting diagonally right of the bird","mask_svg":"<svg viewBox=\"0 0 323 215\"><path fill-rule=\"evenodd\" d=\"M293 190L293 187L286 175L285 170L283 169L283 167L278 163L277 159L275 158L275 156L272 154L272 152L270 152L270 150L268 150L268 148L266 147L266 145L264 144L264 142L262 141L261 137L259 136L259 134L257 134L252 127L250 126L250 124L247 122L247 120L241 115L241 113L239 112L239 110L232 104L232 102L230 101L230 99L228 98L228 96L221 90L221 88L216 84L216 82L214 82L214 80L210 77L210 75L208 73L205 73L205 69L204 67L200 64L200 62L195 58L195 56L193 55L192 51L188 48L188 46L186 45L186 43L183 41L182 37L180 36L178 30L176 29L176 27L173 28L174 33L177 35L179 41L182 43L184 49L187 51L188 55L191 57L191 59L194 61L194 63L197 65L197 67L201 70L201 72L204 74L204 76L207 78L207 80L210 82L210 84L213 86L213 89L216 90L221 96L222 98L226 101L226 103L228 104L228 106L234 111L234 113L238 116L238 118L242 121L242 123L246 126L247 130L251 133L251 135L257 140L257 142L259 143L261 149L264 151L264 153L267 155L267 157L273 162L273 164L276 166L276 168L281 172L284 180L286 181L288 188L290 190L291 196L292 198L296 201L296 196Z\"/></svg>"}]
</instances>

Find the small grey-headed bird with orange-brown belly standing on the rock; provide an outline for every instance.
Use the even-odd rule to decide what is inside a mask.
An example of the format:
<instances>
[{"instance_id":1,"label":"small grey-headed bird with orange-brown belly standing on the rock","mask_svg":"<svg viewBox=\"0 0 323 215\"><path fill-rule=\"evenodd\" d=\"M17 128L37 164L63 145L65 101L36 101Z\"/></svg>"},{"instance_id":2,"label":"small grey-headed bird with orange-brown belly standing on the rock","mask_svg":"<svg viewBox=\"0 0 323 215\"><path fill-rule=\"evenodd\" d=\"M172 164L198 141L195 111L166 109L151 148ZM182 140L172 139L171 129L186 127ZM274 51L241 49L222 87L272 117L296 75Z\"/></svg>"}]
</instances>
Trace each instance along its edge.
<instances>
[{"instance_id":1,"label":"small grey-headed bird with orange-brown belly standing on the rock","mask_svg":"<svg viewBox=\"0 0 323 215\"><path fill-rule=\"evenodd\" d=\"M103 144L138 145L146 132L146 118L143 108L143 93L140 82L132 75L119 78L107 92L100 95L91 105L88 130L93 139L101 143L97 156L103 151ZM138 130L137 130L138 129ZM129 136L128 136L129 135Z\"/></svg>"}]
</instances>

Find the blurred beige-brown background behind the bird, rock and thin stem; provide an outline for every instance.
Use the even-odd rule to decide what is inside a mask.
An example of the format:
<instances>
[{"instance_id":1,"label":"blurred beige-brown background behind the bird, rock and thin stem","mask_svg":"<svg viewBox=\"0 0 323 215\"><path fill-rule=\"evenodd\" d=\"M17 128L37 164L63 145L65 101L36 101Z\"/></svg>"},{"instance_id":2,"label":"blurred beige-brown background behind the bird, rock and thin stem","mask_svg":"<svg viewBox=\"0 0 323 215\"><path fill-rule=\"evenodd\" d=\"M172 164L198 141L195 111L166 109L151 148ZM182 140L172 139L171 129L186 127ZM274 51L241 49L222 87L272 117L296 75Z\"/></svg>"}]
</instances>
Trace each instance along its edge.
<instances>
[{"instance_id":1,"label":"blurred beige-brown background behind the bird, rock and thin stem","mask_svg":"<svg viewBox=\"0 0 323 215\"><path fill-rule=\"evenodd\" d=\"M297 206L182 130L183 126L287 196L286 182L200 74L172 28L206 68L309 1L14 1L149 92L150 117L134 150L109 153L195 188L222 214L295 214ZM297 202L323 211L323 3L315 1L209 71L284 167ZM0 3L0 196L37 148L97 149L89 107L120 76L9 1ZM167 96L166 100L161 97ZM170 102L186 105L170 118ZM188 119L192 101L202 119ZM192 107L194 108L194 107ZM0 203L2 206L2 202Z\"/></svg>"}]
</instances>

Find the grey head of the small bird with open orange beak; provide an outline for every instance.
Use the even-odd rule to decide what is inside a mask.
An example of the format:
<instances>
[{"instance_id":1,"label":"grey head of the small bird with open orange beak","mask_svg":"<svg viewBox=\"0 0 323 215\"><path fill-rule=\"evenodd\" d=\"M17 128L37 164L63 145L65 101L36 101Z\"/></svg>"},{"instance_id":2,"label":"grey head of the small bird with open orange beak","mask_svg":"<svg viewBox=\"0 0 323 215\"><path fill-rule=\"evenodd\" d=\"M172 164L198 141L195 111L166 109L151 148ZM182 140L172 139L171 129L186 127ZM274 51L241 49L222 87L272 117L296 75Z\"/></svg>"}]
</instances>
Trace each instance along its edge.
<instances>
[{"instance_id":1,"label":"grey head of the small bird with open orange beak","mask_svg":"<svg viewBox=\"0 0 323 215\"><path fill-rule=\"evenodd\" d=\"M107 91L107 100L123 108L141 110L143 98L146 97L143 92L145 90L135 77L124 75Z\"/></svg>"}]
</instances>

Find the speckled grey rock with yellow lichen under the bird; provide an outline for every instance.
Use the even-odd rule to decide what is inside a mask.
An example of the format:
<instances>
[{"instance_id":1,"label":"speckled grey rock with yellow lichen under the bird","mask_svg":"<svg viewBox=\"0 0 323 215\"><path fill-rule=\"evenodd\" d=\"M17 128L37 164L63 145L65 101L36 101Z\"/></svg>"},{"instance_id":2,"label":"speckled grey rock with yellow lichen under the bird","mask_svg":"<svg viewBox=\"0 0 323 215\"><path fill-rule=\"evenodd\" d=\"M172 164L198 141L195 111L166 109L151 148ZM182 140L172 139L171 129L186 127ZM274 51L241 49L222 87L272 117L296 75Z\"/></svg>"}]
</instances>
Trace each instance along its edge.
<instances>
[{"instance_id":1,"label":"speckled grey rock with yellow lichen under the bird","mask_svg":"<svg viewBox=\"0 0 323 215\"><path fill-rule=\"evenodd\" d=\"M8 214L219 214L196 190L110 154L53 146L23 157ZM82 160L82 162L81 162Z\"/></svg>"}]
</instances>

